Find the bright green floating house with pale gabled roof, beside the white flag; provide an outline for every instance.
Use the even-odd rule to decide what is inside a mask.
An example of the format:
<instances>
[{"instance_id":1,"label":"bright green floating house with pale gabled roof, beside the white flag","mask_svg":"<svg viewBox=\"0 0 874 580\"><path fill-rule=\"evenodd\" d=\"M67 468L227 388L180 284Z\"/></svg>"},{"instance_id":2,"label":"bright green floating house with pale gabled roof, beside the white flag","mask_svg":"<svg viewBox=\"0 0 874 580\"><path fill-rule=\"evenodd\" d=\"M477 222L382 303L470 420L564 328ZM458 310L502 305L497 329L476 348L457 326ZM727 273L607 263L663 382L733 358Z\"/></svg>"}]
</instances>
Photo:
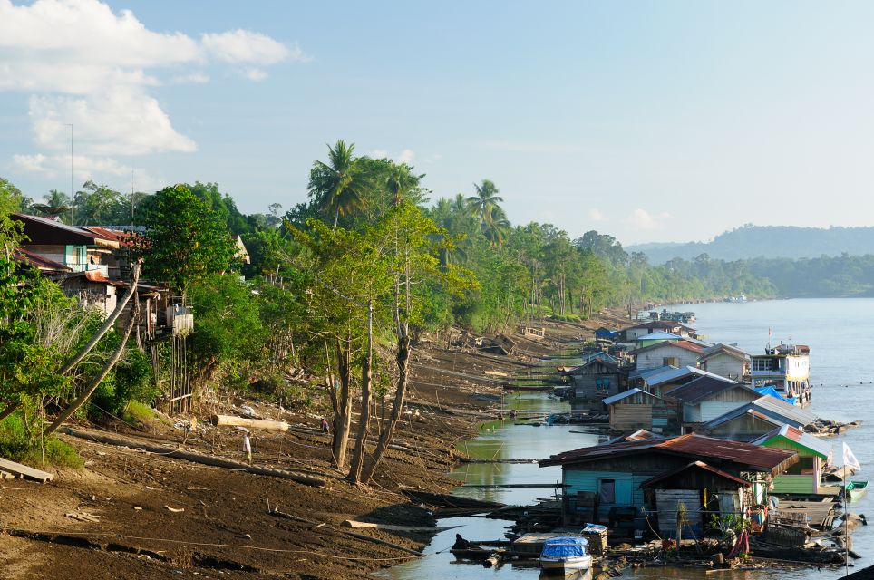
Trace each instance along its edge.
<instances>
[{"instance_id":1,"label":"bright green floating house with pale gabled roof, beside the white flag","mask_svg":"<svg viewBox=\"0 0 874 580\"><path fill-rule=\"evenodd\" d=\"M772 493L820 493L822 469L828 466L831 455L830 444L789 425L778 427L750 442L798 453L798 463L774 478Z\"/></svg>"}]
</instances>

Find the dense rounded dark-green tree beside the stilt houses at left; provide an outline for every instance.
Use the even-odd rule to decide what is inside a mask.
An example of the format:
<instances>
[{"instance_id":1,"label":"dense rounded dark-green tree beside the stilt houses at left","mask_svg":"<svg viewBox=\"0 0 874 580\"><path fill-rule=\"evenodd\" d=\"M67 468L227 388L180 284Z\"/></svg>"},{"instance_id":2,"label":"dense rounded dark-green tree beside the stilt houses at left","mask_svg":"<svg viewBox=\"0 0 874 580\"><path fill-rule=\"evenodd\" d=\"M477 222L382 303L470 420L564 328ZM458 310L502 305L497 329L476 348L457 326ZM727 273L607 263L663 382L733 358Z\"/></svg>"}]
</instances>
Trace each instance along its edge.
<instances>
[{"instance_id":1,"label":"dense rounded dark-green tree beside the stilt houses at left","mask_svg":"<svg viewBox=\"0 0 874 580\"><path fill-rule=\"evenodd\" d=\"M135 249L146 258L144 274L170 284L183 300L193 282L225 272L236 262L228 228L186 185L156 193L144 225Z\"/></svg>"}]
</instances>

